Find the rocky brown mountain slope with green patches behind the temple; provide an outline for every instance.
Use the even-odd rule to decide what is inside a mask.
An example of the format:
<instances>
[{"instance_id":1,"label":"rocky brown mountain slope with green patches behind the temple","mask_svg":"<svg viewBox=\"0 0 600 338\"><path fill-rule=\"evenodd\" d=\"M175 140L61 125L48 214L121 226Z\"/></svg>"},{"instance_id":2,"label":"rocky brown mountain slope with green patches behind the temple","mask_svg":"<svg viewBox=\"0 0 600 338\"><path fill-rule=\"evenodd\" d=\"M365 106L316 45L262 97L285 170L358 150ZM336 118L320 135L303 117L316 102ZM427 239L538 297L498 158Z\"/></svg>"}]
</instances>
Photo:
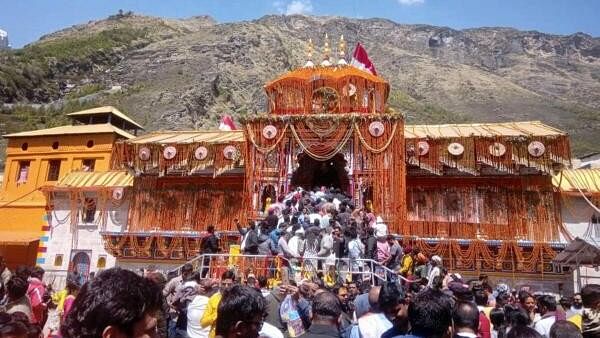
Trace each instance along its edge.
<instances>
[{"instance_id":1,"label":"rocky brown mountain slope with green patches behind the temple","mask_svg":"<svg viewBox=\"0 0 600 338\"><path fill-rule=\"evenodd\" d=\"M263 84L302 65L308 39L320 47L325 33L366 47L409 123L542 120L571 133L576 154L600 151L600 38L298 15L219 24L119 13L44 36L0 54L0 129L96 104L149 130L215 126L223 113L264 111Z\"/></svg>"}]
</instances>

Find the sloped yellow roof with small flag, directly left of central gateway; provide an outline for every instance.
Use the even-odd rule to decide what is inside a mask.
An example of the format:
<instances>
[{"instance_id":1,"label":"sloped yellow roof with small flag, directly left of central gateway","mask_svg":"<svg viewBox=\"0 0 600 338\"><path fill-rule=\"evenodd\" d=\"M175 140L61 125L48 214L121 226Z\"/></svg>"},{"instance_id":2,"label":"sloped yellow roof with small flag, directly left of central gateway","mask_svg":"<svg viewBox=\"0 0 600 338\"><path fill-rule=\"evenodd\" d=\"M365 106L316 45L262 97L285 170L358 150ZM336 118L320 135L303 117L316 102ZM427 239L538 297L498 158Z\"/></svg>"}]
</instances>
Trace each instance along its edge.
<instances>
[{"instance_id":1,"label":"sloped yellow roof with small flag, directly left of central gateway","mask_svg":"<svg viewBox=\"0 0 600 338\"><path fill-rule=\"evenodd\" d=\"M244 132L241 130L222 131L159 131L128 140L127 143L231 143L244 142Z\"/></svg>"}]
</instances>

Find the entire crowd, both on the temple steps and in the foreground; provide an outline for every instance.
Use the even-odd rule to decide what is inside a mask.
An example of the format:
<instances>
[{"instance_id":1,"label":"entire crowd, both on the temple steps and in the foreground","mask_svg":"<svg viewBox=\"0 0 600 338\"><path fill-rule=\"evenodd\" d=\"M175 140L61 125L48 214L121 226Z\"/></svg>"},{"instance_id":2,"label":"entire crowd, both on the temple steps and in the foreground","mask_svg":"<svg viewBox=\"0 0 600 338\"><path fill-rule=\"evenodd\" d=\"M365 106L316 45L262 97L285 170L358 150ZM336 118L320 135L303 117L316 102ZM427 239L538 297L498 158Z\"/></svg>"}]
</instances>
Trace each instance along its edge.
<instances>
[{"instance_id":1,"label":"entire crowd, both on the temple steps and in the foreground","mask_svg":"<svg viewBox=\"0 0 600 338\"><path fill-rule=\"evenodd\" d=\"M283 276L300 265L319 273L273 283L235 270L216 278L206 264L177 276L111 268L85 283L69 274L55 291L42 268L10 271L0 258L0 338L600 337L600 285L557 302L485 275L465 280L442 257L402 247L368 202L357 209L335 189L299 189L265 211L246 228L236 222L242 252L282 257ZM216 253L207 232L202 251ZM364 279L365 260L389 278Z\"/></svg>"}]
</instances>

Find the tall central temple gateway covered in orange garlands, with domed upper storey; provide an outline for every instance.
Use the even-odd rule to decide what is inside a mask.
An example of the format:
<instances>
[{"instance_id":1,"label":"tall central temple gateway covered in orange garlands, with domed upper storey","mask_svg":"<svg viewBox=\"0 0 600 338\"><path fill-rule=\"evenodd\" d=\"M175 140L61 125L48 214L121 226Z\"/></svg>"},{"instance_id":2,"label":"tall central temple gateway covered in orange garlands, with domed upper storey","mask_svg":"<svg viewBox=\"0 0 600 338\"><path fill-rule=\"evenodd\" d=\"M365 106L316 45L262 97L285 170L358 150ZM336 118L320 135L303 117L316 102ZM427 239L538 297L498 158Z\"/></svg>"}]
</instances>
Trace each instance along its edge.
<instances>
[{"instance_id":1,"label":"tall central temple gateway covered in orange garlands, with domed upper storey","mask_svg":"<svg viewBox=\"0 0 600 338\"><path fill-rule=\"evenodd\" d=\"M399 232L406 217L404 117L386 107L389 84L351 66L309 66L265 90L268 113L241 120L248 218L264 218L267 199L324 186Z\"/></svg>"}]
</instances>

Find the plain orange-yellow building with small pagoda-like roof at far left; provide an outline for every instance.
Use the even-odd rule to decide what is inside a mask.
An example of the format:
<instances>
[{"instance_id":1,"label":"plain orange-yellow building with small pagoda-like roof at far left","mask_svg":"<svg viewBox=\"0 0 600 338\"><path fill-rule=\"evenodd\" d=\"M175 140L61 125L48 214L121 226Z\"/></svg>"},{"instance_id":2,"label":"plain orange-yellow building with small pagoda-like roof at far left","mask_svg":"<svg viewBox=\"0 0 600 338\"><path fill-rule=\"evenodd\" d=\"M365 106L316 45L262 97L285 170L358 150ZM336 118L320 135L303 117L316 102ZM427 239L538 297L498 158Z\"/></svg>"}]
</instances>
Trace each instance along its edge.
<instances>
[{"instance_id":1,"label":"plain orange-yellow building with small pagoda-like roof at far left","mask_svg":"<svg viewBox=\"0 0 600 338\"><path fill-rule=\"evenodd\" d=\"M6 167L0 191L0 255L10 267L42 264L47 222L40 187L72 171L110 169L116 140L142 127L114 107L69 114L73 125L4 135Z\"/></svg>"}]
</instances>

